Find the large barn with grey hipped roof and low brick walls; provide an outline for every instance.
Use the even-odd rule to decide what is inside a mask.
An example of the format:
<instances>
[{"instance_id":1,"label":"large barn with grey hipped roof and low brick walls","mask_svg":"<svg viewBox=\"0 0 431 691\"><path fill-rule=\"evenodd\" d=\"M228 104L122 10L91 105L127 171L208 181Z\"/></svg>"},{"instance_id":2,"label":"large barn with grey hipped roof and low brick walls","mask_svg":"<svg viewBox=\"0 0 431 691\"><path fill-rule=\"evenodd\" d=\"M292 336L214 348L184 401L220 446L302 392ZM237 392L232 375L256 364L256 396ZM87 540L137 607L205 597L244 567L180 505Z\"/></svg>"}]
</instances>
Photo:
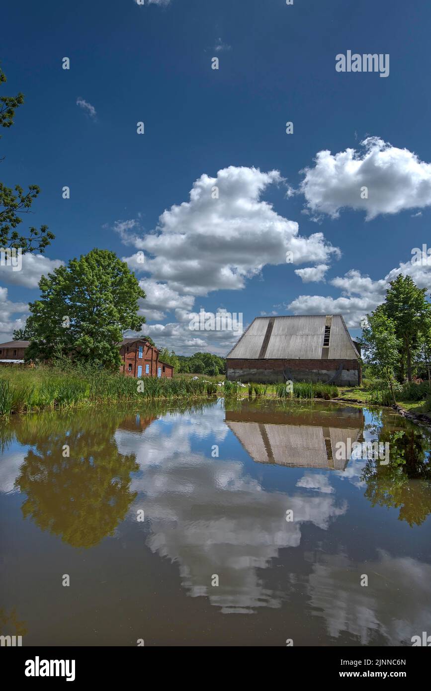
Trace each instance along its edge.
<instances>
[{"instance_id":1,"label":"large barn with grey hipped roof and low brick walls","mask_svg":"<svg viewBox=\"0 0 431 691\"><path fill-rule=\"evenodd\" d=\"M258 316L226 357L231 381L361 384L361 361L340 314Z\"/></svg>"}]
</instances>

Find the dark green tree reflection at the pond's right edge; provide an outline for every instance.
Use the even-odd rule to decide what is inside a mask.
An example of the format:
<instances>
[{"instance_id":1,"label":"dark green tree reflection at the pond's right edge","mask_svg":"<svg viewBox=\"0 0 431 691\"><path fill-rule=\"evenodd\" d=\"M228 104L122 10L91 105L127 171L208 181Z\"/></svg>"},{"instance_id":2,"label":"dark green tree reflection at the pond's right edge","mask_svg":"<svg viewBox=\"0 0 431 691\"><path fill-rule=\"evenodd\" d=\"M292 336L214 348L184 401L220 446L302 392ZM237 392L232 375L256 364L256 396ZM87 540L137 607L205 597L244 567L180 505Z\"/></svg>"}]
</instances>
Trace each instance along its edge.
<instances>
[{"instance_id":1,"label":"dark green tree reflection at the pond's right edge","mask_svg":"<svg viewBox=\"0 0 431 691\"><path fill-rule=\"evenodd\" d=\"M390 443L390 462L367 460L362 480L372 506L399 509L399 520L420 525L431 513L431 464L429 439L413 428L383 427L379 441Z\"/></svg>"}]
</instances>

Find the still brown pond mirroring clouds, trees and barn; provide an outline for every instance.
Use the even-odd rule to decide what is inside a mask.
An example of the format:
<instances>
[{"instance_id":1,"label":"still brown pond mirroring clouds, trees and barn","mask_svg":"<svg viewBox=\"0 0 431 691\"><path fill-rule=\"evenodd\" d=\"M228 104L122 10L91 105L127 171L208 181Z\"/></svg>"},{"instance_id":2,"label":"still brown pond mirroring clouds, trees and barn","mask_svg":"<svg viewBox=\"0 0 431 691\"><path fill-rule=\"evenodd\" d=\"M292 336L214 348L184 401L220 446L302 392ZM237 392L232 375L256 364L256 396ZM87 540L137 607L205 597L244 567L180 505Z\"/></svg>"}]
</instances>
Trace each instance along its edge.
<instances>
[{"instance_id":1,"label":"still brown pond mirroring clouds, trees and barn","mask_svg":"<svg viewBox=\"0 0 431 691\"><path fill-rule=\"evenodd\" d=\"M15 415L0 439L0 629L23 645L429 632L431 439L390 409L111 406Z\"/></svg>"}]
</instances>

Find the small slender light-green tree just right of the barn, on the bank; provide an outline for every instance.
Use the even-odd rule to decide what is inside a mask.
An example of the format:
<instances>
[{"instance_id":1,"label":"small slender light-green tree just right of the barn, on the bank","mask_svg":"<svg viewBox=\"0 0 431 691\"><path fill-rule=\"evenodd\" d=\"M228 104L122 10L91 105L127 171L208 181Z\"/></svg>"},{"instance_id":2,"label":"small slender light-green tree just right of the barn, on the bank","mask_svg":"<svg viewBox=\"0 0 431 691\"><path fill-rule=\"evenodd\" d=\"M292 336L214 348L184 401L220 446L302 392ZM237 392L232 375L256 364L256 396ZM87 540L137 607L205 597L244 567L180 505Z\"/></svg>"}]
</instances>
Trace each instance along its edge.
<instances>
[{"instance_id":1,"label":"small slender light-green tree just right of the barn, on the bank","mask_svg":"<svg viewBox=\"0 0 431 691\"><path fill-rule=\"evenodd\" d=\"M363 328L361 338L368 369L372 375L386 381L394 403L394 370L399 361L400 348L395 330L392 319L377 307L372 314L367 315L367 326Z\"/></svg>"}]
</instances>

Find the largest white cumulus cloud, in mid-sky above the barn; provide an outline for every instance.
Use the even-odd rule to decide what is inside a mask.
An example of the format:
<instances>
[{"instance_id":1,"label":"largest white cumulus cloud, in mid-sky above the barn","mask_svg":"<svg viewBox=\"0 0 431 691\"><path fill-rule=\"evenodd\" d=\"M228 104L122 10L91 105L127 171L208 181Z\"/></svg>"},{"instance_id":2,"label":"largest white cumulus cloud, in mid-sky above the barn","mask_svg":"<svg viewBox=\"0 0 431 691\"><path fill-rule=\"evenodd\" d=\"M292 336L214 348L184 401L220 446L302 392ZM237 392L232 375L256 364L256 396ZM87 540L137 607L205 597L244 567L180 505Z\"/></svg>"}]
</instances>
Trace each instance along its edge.
<instances>
[{"instance_id":1,"label":"largest white cumulus cloud, in mid-sky above the barn","mask_svg":"<svg viewBox=\"0 0 431 691\"><path fill-rule=\"evenodd\" d=\"M164 211L154 233L137 238L131 225L132 239L124 227L122 237L146 250L145 270L155 280L194 296L242 290L263 266L285 264L287 252L296 265L339 256L322 233L300 236L298 223L262 200L265 189L280 182L278 171L247 167L224 168L215 178L204 174L189 201Z\"/></svg>"}]
</instances>

